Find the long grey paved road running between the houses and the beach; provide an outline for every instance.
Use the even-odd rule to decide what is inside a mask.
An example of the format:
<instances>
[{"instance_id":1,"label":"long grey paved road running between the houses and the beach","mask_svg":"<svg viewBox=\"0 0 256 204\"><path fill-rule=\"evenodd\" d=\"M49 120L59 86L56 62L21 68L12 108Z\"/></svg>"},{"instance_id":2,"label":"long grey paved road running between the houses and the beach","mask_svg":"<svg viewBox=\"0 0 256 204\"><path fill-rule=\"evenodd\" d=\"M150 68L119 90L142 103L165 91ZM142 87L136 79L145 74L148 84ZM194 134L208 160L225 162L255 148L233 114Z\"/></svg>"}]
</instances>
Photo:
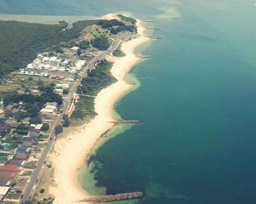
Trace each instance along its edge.
<instances>
[{"instance_id":1,"label":"long grey paved road running between the houses and the beach","mask_svg":"<svg viewBox=\"0 0 256 204\"><path fill-rule=\"evenodd\" d=\"M64 114L66 114L67 110L69 109L69 106L72 103L72 98L77 90L77 87L80 85L82 79L86 77L87 71L93 68L97 60L102 60L103 58L105 58L105 55L112 53L113 50L116 50L119 44L120 44L120 41L113 41L113 43L110 45L107 51L99 52L99 55L97 55L94 59L92 59L90 63L86 66L86 68L83 69L79 79L75 82L75 85L72 86L69 92L69 95L67 96L67 101L64 103L64 107L63 107L63 110L61 111L61 114L52 124L52 130L50 132L50 136L48 138L47 144L45 148L42 150L42 154L37 162L37 167L34 169L34 173L33 175L31 175L29 183L26 185L26 188L23 192L23 198L20 200L20 203L25 203L26 200L31 199L30 195L31 195L31 192L33 191L33 187L35 186L37 179L39 179L39 173L41 172L44 162L48 157L50 148L53 146L53 141L54 141L53 138L56 136L55 127L61 124L62 117L64 116Z\"/></svg>"}]
</instances>

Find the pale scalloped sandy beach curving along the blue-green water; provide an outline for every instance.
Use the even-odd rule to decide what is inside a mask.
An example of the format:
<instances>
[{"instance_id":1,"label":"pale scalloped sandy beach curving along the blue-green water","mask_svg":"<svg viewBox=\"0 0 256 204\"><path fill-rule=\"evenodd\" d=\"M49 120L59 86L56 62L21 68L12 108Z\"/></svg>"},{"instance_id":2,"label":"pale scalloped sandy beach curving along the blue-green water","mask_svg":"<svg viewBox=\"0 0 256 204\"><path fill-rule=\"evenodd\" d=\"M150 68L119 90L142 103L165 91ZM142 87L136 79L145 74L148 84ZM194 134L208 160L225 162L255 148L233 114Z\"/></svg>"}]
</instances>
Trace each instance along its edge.
<instances>
[{"instance_id":1,"label":"pale scalloped sandy beach curving along the blue-green water","mask_svg":"<svg viewBox=\"0 0 256 204\"><path fill-rule=\"evenodd\" d=\"M105 15L104 18L113 19L115 17L111 14ZM138 22L140 36L129 42L124 42L121 46L121 50L126 54L125 57L111 57L114 62L111 73L118 81L102 90L95 98L97 117L89 124L76 128L75 131L56 141L50 154L50 160L53 161L55 184L54 187L49 188L51 194L56 197L54 203L72 203L74 200L89 197L89 193L78 183L78 170L97 140L113 127L110 121L113 121L114 103L132 87L124 81L124 76L140 60L134 54L135 48L150 40L143 36L143 31L144 28Z\"/></svg>"}]
</instances>

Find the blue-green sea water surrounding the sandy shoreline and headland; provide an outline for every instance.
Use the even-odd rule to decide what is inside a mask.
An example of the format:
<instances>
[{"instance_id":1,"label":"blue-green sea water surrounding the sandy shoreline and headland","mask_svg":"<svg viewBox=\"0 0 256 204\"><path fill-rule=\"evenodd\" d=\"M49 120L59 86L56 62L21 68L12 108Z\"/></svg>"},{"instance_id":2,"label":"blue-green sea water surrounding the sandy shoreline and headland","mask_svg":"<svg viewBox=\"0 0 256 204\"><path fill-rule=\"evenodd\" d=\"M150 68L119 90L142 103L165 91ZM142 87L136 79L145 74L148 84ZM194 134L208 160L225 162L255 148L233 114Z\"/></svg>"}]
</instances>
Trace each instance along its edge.
<instances>
[{"instance_id":1,"label":"blue-green sea water surrounding the sandy shoreline and headland","mask_svg":"<svg viewBox=\"0 0 256 204\"><path fill-rule=\"evenodd\" d=\"M162 37L116 103L124 119L81 176L92 193L143 191L117 203L256 203L256 7L252 0L0 0L15 15L131 12ZM1 15L0 15L1 19ZM149 32L151 34L152 31Z\"/></svg>"}]
</instances>

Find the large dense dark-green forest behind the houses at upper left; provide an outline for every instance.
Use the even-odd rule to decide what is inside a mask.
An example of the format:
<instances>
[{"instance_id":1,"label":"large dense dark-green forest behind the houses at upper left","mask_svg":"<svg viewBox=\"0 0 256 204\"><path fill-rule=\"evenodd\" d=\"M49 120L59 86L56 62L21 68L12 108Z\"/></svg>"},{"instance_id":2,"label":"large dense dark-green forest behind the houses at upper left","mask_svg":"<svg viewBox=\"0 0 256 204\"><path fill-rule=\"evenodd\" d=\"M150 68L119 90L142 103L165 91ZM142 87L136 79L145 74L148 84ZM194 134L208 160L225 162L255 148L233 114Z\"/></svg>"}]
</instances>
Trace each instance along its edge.
<instances>
[{"instance_id":1,"label":"large dense dark-green forest behind the houses at upper left","mask_svg":"<svg viewBox=\"0 0 256 204\"><path fill-rule=\"evenodd\" d=\"M58 50L60 42L78 38L83 28L98 22L81 20L73 23L73 28L63 30L67 27L64 21L48 25L0 20L0 78L25 67L48 47Z\"/></svg>"}]
</instances>

